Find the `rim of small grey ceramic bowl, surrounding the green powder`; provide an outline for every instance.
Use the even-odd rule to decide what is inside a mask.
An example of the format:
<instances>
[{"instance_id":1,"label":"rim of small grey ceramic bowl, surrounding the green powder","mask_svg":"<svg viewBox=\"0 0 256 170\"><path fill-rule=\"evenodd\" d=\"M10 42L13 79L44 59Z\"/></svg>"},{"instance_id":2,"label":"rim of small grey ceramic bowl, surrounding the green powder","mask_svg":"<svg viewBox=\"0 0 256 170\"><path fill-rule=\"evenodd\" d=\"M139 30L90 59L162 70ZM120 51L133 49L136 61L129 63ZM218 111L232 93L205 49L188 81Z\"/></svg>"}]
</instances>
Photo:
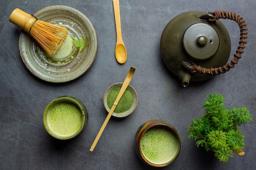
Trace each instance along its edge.
<instances>
[{"instance_id":1,"label":"rim of small grey ceramic bowl, surrounding the green powder","mask_svg":"<svg viewBox=\"0 0 256 170\"><path fill-rule=\"evenodd\" d=\"M109 93L110 93L114 88L121 87L122 85L123 85L123 83L116 83L116 84L111 85L111 86L106 90L106 92L105 92L105 94L104 94L104 97L103 97L103 103L104 103L104 106L105 106L105 108L106 108L106 110L107 110L108 112L110 111L110 109L111 109L111 107L112 107L112 106L111 106L110 108L108 107L108 95L109 95ZM134 89L132 86L130 86L130 85L128 85L127 89L132 93L132 96L133 96L133 102L132 102L131 107L130 107L128 110L126 110L126 111L124 111L124 112L121 112L121 113L116 113L116 112L114 111L114 112L112 113L112 116L114 116L114 117L126 117L126 116L130 115L130 114L135 110L135 108L136 108L136 106L137 106L137 103L138 103L138 96L137 96L137 93L136 93L135 89ZM120 103L119 103L119 104L120 104ZM118 106L119 104L117 104L117 106Z\"/></svg>"}]
</instances>

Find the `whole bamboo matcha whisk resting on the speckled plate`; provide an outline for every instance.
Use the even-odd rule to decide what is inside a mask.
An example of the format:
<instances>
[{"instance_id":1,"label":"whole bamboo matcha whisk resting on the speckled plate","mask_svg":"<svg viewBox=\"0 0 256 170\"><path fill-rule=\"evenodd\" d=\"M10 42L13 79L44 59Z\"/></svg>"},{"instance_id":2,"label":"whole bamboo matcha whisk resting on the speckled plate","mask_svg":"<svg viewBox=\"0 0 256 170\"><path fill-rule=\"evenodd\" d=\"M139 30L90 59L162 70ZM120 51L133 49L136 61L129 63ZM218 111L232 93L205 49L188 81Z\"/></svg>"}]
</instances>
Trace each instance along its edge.
<instances>
[{"instance_id":1,"label":"whole bamboo matcha whisk resting on the speckled plate","mask_svg":"<svg viewBox=\"0 0 256 170\"><path fill-rule=\"evenodd\" d=\"M54 55L67 37L67 29L38 20L34 15L16 8L9 21L29 33L49 55Z\"/></svg>"}]
</instances>

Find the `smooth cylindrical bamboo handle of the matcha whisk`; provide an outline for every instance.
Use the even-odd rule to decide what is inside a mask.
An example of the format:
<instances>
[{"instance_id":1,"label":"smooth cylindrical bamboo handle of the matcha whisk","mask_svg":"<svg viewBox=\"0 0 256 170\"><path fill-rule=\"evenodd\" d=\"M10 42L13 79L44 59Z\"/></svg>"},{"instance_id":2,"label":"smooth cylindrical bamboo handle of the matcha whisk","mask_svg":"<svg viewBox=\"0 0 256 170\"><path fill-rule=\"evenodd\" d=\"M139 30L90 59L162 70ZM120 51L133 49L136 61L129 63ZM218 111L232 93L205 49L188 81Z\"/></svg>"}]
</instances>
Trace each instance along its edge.
<instances>
[{"instance_id":1,"label":"smooth cylindrical bamboo handle of the matcha whisk","mask_svg":"<svg viewBox=\"0 0 256 170\"><path fill-rule=\"evenodd\" d=\"M20 27L22 30L29 33L31 26L36 21L32 15L16 8L10 15L9 21L16 26Z\"/></svg>"}]
</instances>

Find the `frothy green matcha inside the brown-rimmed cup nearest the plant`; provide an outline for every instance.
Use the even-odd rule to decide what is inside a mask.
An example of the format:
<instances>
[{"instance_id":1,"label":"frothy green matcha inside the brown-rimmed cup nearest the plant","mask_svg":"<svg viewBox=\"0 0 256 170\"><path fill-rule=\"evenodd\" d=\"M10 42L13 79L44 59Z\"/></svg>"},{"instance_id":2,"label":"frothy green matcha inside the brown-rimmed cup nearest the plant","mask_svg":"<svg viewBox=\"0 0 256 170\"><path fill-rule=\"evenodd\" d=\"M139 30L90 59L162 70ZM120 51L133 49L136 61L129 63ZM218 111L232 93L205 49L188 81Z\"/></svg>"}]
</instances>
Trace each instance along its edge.
<instances>
[{"instance_id":1,"label":"frothy green matcha inside the brown-rimmed cup nearest the plant","mask_svg":"<svg viewBox=\"0 0 256 170\"><path fill-rule=\"evenodd\" d=\"M140 146L142 154L149 162L162 165L175 157L179 141L168 128L154 126L144 133Z\"/></svg>"}]
</instances>

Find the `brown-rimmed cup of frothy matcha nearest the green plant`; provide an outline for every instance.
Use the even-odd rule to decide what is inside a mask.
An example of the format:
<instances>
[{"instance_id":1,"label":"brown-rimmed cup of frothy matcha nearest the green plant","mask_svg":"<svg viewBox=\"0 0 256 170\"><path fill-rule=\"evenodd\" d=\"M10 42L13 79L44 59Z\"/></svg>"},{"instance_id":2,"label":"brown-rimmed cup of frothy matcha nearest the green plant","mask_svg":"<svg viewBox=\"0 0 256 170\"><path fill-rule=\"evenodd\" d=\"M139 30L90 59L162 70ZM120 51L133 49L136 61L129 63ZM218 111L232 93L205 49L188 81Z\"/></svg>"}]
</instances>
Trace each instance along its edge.
<instances>
[{"instance_id":1,"label":"brown-rimmed cup of frothy matcha nearest the green plant","mask_svg":"<svg viewBox=\"0 0 256 170\"><path fill-rule=\"evenodd\" d=\"M170 165L178 157L180 148L179 133L163 120L147 121L138 128L135 135L135 151L150 166Z\"/></svg>"}]
</instances>

